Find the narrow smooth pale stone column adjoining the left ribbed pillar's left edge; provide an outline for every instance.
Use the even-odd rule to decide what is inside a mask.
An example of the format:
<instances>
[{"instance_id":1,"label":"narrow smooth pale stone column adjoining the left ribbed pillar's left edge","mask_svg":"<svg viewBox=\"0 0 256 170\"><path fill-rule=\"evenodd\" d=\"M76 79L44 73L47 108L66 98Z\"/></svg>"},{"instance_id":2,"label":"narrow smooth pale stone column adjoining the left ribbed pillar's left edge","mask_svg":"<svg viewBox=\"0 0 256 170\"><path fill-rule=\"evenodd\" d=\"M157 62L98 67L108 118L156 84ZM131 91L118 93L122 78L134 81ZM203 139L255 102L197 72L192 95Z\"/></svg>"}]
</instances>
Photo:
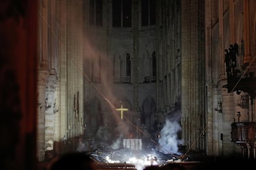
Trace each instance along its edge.
<instances>
[{"instance_id":1,"label":"narrow smooth pale stone column adjoining the left ribbed pillar's left edge","mask_svg":"<svg viewBox=\"0 0 256 170\"><path fill-rule=\"evenodd\" d=\"M58 82L56 84L56 104L54 125L54 152L56 155L64 151L64 136L67 137L67 4L66 0L56 1L56 20L58 30Z\"/></svg>"}]
</instances>

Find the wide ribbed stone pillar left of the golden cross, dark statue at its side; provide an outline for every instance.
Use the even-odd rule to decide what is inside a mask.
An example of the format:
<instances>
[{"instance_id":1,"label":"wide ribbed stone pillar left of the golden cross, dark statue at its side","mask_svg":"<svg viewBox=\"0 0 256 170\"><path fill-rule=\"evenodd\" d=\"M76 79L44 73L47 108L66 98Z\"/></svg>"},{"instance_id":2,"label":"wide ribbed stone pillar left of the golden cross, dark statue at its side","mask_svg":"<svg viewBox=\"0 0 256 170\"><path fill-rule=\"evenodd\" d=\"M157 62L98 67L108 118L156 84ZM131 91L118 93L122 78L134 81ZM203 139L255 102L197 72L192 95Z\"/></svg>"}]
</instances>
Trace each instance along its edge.
<instances>
[{"instance_id":1,"label":"wide ribbed stone pillar left of the golden cross, dark statue at its side","mask_svg":"<svg viewBox=\"0 0 256 170\"><path fill-rule=\"evenodd\" d=\"M82 1L67 1L66 20L66 108L67 108L67 140L76 142L75 137L80 135L79 115L82 109L77 107L77 96L79 93L80 106L83 95L83 73L82 73ZM65 22L65 21L64 21ZM79 113L79 114L78 114ZM74 147L74 146L72 146Z\"/></svg>"}]
</instances>

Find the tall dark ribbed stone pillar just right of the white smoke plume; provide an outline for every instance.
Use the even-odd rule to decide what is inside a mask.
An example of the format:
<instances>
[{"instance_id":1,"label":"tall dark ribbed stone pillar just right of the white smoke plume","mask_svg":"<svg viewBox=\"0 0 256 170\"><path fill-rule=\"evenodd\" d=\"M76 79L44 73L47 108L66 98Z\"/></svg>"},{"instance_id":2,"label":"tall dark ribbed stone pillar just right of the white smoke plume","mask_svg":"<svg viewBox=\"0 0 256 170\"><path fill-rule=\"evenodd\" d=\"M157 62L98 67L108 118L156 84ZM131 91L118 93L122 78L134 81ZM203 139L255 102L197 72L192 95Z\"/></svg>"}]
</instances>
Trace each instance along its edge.
<instances>
[{"instance_id":1,"label":"tall dark ribbed stone pillar just right of the white smoke plume","mask_svg":"<svg viewBox=\"0 0 256 170\"><path fill-rule=\"evenodd\" d=\"M201 34L204 29L203 7L204 3L198 1L189 4L181 1L181 110L184 119L182 136L184 145L192 147L193 150L202 147L199 143L203 142L199 140L202 140L204 130L202 127L205 114L205 45L204 36Z\"/></svg>"}]
</instances>

